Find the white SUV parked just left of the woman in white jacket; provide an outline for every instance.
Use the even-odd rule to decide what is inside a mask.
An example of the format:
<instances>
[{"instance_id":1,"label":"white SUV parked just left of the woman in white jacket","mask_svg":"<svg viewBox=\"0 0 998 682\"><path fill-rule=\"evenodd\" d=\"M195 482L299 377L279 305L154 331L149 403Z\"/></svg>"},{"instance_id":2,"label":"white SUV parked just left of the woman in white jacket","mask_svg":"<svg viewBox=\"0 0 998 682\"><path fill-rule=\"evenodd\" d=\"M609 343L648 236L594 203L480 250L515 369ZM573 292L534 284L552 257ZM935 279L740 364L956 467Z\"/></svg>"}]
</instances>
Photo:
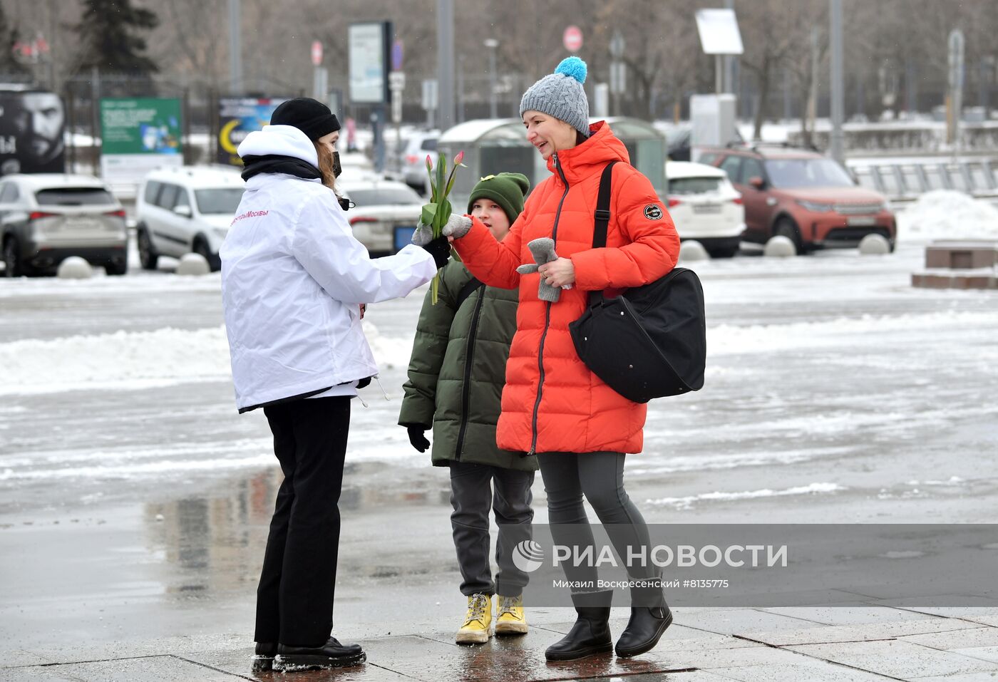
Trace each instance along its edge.
<instances>
[{"instance_id":1,"label":"white SUV parked just left of the woman in white jacket","mask_svg":"<svg viewBox=\"0 0 998 682\"><path fill-rule=\"evenodd\" d=\"M161 255L200 253L213 270L246 183L239 171L211 167L160 169L146 175L136 197L139 259L155 270Z\"/></svg>"}]
</instances>

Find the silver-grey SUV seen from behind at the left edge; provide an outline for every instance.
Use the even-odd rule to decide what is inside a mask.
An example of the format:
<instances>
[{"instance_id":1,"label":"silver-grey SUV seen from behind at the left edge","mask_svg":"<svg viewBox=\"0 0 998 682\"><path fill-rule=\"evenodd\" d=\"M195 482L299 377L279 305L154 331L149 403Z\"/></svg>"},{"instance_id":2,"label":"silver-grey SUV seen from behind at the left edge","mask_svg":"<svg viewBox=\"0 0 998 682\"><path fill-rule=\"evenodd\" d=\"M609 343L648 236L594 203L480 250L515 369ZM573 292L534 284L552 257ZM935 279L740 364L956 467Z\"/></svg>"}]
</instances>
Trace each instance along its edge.
<instances>
[{"instance_id":1,"label":"silver-grey SUV seen from behind at the left edge","mask_svg":"<svg viewBox=\"0 0 998 682\"><path fill-rule=\"evenodd\" d=\"M0 226L7 277L52 275L74 255L110 275L128 271L125 209L92 175L0 177Z\"/></svg>"}]
</instances>

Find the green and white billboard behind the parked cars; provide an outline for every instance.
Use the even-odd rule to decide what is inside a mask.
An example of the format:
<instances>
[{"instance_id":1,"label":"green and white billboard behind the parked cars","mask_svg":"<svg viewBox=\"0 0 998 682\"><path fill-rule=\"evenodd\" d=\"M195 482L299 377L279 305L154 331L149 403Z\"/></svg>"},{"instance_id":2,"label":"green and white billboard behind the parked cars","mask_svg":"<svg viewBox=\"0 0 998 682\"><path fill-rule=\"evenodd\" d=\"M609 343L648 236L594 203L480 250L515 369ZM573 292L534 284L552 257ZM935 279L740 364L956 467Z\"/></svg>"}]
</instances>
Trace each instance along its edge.
<instances>
[{"instance_id":1,"label":"green and white billboard behind the parked cars","mask_svg":"<svg viewBox=\"0 0 998 682\"><path fill-rule=\"evenodd\" d=\"M181 101L116 97L101 100L101 174L135 182L153 169L183 166Z\"/></svg>"}]
</instances>

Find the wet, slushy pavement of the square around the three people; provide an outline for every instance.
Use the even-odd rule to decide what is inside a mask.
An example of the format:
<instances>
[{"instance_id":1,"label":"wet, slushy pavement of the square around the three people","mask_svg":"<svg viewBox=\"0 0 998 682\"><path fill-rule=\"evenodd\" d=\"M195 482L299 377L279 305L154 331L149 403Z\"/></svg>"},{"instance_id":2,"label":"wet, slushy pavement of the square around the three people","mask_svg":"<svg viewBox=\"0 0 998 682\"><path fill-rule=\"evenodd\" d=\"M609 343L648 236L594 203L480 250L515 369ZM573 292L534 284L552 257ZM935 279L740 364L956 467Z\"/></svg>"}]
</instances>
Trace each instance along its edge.
<instances>
[{"instance_id":1,"label":"wet, slushy pavement of the square around the three people","mask_svg":"<svg viewBox=\"0 0 998 682\"><path fill-rule=\"evenodd\" d=\"M699 267L708 386L652 404L626 470L646 518L993 521L998 298L914 290L919 264L907 247ZM168 273L0 282L0 680L284 677L250 674L280 473L265 420L236 414L225 359L205 360L224 344L218 289L216 275ZM391 400L372 388L353 406L334 633L368 662L297 679L998 679L998 604L911 608L890 594L680 608L634 660L546 663L571 612L530 604L525 637L454 644L449 482L395 426L420 302L372 307ZM185 347L184 334L208 336ZM626 615L615 609L615 634Z\"/></svg>"}]
</instances>

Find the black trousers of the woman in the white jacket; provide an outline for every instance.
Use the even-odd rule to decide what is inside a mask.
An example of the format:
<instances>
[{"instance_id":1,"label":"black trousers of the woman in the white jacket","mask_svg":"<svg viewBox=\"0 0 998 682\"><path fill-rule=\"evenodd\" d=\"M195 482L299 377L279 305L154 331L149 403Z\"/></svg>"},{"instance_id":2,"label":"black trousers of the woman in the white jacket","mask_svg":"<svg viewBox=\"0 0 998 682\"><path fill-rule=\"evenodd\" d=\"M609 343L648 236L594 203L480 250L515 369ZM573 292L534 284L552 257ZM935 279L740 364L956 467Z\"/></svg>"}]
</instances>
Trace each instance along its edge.
<instances>
[{"instance_id":1,"label":"black trousers of the woman in the white jacket","mask_svg":"<svg viewBox=\"0 0 998 682\"><path fill-rule=\"evenodd\" d=\"M254 640L319 646L332 629L350 398L295 400L263 413L284 481L256 589Z\"/></svg>"}]
</instances>

